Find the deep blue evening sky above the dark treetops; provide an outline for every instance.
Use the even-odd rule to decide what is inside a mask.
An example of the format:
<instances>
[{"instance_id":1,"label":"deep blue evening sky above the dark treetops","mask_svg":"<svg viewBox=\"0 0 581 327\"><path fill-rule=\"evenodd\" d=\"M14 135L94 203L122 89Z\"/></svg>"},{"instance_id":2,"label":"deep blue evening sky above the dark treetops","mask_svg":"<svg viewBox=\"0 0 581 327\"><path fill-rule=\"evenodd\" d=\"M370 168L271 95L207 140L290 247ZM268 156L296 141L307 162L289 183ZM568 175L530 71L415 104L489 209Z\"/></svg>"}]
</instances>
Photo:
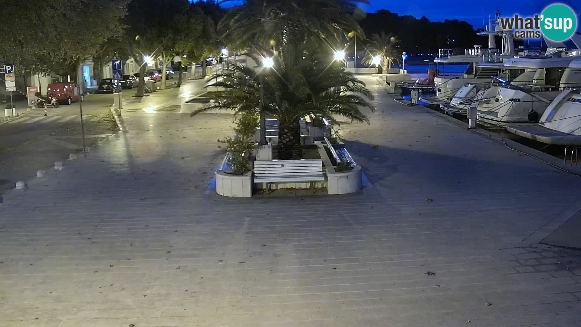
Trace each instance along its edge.
<instances>
[{"instance_id":1,"label":"deep blue evening sky above the dark treetops","mask_svg":"<svg viewBox=\"0 0 581 327\"><path fill-rule=\"evenodd\" d=\"M488 16L494 18L496 8L500 9L503 16L514 16L515 13L523 16L532 16L541 13L544 8L552 3L565 3L576 13L581 12L579 1L541 1L541 0L369 0L369 5L361 5L365 12L376 12L379 9L388 9L400 16L412 15L414 17L426 16L429 20L440 22L444 19L466 20L475 28L482 27L482 16L488 24ZM224 3L225 6L233 6L241 1L231 1ZM574 5L575 3L575 5ZM578 19L578 29L581 27L581 19Z\"/></svg>"}]
</instances>

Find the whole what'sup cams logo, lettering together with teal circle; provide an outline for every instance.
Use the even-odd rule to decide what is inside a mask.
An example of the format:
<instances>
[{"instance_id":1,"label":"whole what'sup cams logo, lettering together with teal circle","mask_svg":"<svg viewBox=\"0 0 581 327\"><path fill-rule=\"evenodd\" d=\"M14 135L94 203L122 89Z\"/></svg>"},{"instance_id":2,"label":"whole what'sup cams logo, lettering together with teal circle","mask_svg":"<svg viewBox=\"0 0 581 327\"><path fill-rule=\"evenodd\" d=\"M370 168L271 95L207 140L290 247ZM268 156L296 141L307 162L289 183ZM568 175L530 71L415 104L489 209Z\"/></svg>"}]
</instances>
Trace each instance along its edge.
<instances>
[{"instance_id":1,"label":"whole what'sup cams logo, lettering together with teal circle","mask_svg":"<svg viewBox=\"0 0 581 327\"><path fill-rule=\"evenodd\" d=\"M544 35L552 41L565 41L577 29L577 17L573 9L555 3L533 17L500 17L503 30L514 30L515 38L540 38Z\"/></svg>"}]
</instances>

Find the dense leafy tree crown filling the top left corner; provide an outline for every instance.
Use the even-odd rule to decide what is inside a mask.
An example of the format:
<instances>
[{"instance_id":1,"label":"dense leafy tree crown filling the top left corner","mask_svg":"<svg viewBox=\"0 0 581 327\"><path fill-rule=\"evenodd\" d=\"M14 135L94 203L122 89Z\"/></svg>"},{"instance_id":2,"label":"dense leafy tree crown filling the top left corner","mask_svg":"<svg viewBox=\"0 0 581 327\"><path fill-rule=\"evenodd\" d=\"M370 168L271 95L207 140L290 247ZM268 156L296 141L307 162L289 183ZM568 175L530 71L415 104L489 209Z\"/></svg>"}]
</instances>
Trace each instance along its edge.
<instances>
[{"instance_id":1,"label":"dense leafy tree crown filling the top left corner","mask_svg":"<svg viewBox=\"0 0 581 327\"><path fill-rule=\"evenodd\" d=\"M119 20L127 13L127 2L4 0L2 8L6 12L23 14L18 15L17 23L0 24L0 58L25 74L58 72L76 76L81 61L121 33Z\"/></svg>"}]
</instances>

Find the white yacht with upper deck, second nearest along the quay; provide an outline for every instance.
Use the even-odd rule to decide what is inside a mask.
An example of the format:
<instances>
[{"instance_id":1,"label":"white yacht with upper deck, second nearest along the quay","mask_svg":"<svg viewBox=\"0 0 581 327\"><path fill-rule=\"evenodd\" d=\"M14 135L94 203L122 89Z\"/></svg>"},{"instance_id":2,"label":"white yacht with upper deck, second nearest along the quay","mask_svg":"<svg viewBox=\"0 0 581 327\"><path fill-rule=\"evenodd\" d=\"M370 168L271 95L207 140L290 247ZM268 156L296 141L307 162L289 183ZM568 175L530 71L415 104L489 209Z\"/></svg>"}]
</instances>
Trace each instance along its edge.
<instances>
[{"instance_id":1,"label":"white yacht with upper deck, second nearest along the quay","mask_svg":"<svg viewBox=\"0 0 581 327\"><path fill-rule=\"evenodd\" d=\"M504 66L536 69L531 84L498 84L496 95L484 95L478 104L478 122L490 126L515 126L537 122L547 106L566 87L578 86L581 75L566 73L580 51L547 49L546 55L515 56ZM529 73L530 70L527 71ZM493 89L487 90L493 92Z\"/></svg>"}]
</instances>

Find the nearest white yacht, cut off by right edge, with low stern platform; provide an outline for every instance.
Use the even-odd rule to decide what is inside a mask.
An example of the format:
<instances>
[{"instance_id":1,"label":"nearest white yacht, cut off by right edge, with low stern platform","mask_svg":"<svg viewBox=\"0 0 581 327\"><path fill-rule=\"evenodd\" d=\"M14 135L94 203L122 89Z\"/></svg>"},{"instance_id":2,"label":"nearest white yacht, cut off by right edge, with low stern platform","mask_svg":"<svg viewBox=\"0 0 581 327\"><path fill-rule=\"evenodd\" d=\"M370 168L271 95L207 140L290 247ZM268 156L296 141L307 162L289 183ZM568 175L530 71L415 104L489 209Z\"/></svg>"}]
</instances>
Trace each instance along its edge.
<instances>
[{"instance_id":1,"label":"nearest white yacht, cut off by right edge, with low stern platform","mask_svg":"<svg viewBox=\"0 0 581 327\"><path fill-rule=\"evenodd\" d=\"M581 59L565 69L568 86L547 106L537 125L507 127L511 133L547 144L581 145Z\"/></svg>"}]
</instances>

